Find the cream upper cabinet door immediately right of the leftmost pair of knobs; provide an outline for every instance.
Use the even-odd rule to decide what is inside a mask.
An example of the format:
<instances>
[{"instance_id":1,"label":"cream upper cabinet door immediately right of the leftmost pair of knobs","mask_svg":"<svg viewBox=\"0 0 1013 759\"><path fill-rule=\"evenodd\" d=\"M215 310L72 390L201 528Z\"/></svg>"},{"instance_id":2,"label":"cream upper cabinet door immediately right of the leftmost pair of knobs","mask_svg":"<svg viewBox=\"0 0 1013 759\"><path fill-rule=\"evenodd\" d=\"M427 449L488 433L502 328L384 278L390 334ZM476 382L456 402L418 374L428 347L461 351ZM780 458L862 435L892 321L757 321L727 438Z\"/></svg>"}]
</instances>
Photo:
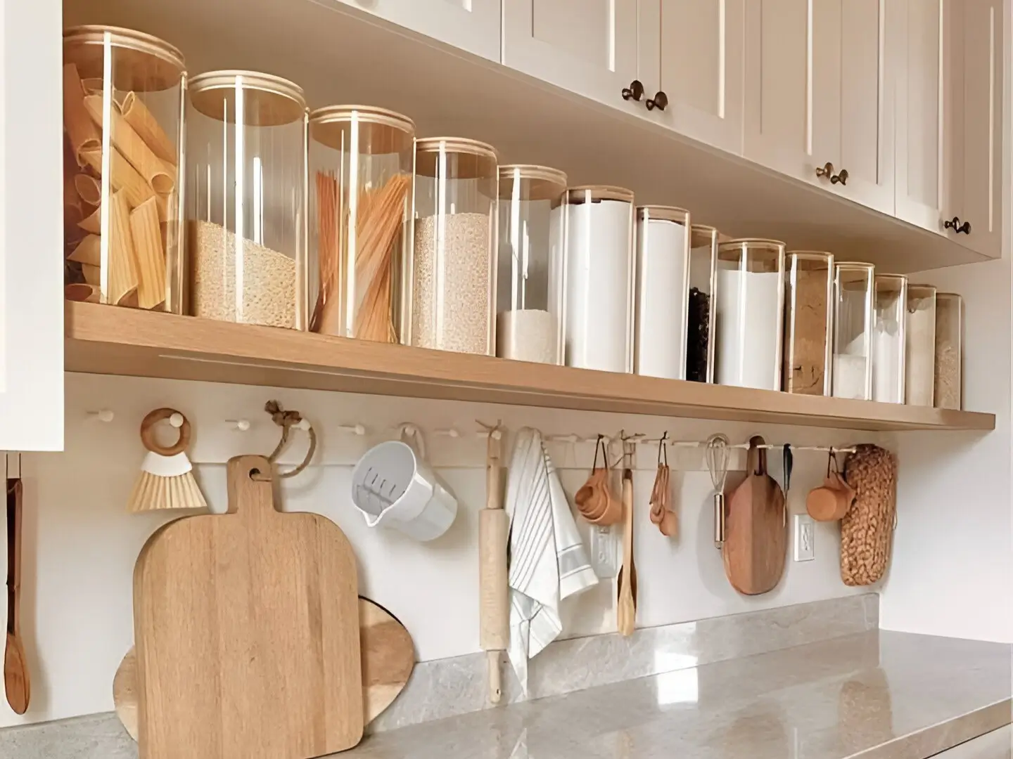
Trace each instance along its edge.
<instances>
[{"instance_id":1,"label":"cream upper cabinet door immediately right of the leftmost pair of knobs","mask_svg":"<svg viewBox=\"0 0 1013 759\"><path fill-rule=\"evenodd\" d=\"M680 134L743 154L745 0L640 0L640 74L656 117Z\"/></svg>"}]
</instances>

